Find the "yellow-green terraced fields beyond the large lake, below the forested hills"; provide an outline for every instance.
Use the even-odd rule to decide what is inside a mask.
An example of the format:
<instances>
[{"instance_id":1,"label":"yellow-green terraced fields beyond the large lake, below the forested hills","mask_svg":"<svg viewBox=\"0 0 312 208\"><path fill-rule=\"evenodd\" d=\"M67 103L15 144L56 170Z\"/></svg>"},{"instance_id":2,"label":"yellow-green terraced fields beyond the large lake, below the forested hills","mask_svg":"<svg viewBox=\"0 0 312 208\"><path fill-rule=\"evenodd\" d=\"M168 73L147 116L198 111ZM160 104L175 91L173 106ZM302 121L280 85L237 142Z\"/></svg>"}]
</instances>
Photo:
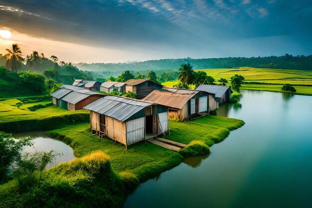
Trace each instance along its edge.
<instances>
[{"instance_id":1,"label":"yellow-green terraced fields beyond the large lake, below the forested hills","mask_svg":"<svg viewBox=\"0 0 312 208\"><path fill-rule=\"evenodd\" d=\"M230 81L231 76L239 74L245 77L245 82L261 82L267 84L243 84L241 89L263 90L282 92L282 84L312 85L312 71L289 70L289 69L268 69L240 67L239 69L201 69L212 76L216 83L220 78ZM173 87L178 81L162 83L167 87ZM228 84L230 85L230 83ZM312 86L295 86L296 94L312 95Z\"/></svg>"}]
</instances>

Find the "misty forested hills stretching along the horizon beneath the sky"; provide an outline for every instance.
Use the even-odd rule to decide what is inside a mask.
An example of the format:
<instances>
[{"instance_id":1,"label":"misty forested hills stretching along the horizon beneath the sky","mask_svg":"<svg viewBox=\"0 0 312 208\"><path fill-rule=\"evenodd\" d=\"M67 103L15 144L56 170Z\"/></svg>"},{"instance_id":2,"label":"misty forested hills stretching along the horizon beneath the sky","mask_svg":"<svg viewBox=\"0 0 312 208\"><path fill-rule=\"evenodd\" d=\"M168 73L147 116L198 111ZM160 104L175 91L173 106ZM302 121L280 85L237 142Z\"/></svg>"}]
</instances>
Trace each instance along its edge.
<instances>
[{"instance_id":1,"label":"misty forested hills stretching along the horizon beneath the sky","mask_svg":"<svg viewBox=\"0 0 312 208\"><path fill-rule=\"evenodd\" d=\"M227 57L227 58L181 58L181 59L160 59L131 63L77 63L73 64L81 70L101 71L119 73L125 70L132 71L157 71L157 70L177 70L179 66L189 62L194 69L209 68L236 68L241 66L256 68L279 68L279 69L298 69L312 70L312 55L267 57ZM113 74L113 73L112 73Z\"/></svg>"}]
</instances>

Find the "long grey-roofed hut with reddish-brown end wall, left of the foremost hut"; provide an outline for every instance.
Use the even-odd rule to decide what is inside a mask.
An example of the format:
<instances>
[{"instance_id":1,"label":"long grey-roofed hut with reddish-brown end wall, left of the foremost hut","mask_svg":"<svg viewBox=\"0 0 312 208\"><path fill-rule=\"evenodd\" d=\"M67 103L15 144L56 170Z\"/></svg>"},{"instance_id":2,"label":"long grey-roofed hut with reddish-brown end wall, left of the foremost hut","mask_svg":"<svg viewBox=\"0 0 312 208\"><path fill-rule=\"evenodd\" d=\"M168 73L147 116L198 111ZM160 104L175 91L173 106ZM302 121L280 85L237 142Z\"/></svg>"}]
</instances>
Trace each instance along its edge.
<instances>
[{"instance_id":1,"label":"long grey-roofed hut with reddish-brown end wall, left of the foremost hut","mask_svg":"<svg viewBox=\"0 0 312 208\"><path fill-rule=\"evenodd\" d=\"M80 110L84 106L106 95L92 92L81 87L63 85L59 90L52 93L51 96L54 105L74 111Z\"/></svg>"}]
</instances>

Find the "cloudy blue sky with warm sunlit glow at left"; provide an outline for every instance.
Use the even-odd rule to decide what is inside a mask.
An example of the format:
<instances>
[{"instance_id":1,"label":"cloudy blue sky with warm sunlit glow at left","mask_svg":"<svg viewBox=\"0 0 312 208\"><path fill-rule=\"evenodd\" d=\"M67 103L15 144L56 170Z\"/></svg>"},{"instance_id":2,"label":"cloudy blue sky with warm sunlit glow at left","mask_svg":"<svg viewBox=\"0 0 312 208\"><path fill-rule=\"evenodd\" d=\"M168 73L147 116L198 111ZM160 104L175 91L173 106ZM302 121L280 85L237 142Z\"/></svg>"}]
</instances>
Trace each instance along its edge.
<instances>
[{"instance_id":1,"label":"cloudy blue sky with warm sunlit glow at left","mask_svg":"<svg viewBox=\"0 0 312 208\"><path fill-rule=\"evenodd\" d=\"M0 0L0 53L66 62L312 54L311 0Z\"/></svg>"}]
</instances>

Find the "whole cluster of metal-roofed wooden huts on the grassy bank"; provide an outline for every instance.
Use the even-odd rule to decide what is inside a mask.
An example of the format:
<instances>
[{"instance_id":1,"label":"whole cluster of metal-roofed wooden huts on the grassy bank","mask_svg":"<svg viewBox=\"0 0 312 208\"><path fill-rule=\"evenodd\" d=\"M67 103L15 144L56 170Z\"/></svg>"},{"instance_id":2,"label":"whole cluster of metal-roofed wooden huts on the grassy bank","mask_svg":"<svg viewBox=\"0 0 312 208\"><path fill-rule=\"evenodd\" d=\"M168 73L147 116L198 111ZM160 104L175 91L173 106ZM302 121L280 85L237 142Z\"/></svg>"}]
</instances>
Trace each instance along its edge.
<instances>
[{"instance_id":1,"label":"whole cluster of metal-roofed wooden huts on the grassy bank","mask_svg":"<svg viewBox=\"0 0 312 208\"><path fill-rule=\"evenodd\" d=\"M138 99L109 94L114 91L131 91ZM177 89L145 79L125 83L75 80L51 96L54 105L66 110L90 110L92 133L127 146L169 133L169 119L190 121L209 114L219 104L229 102L231 89L220 85Z\"/></svg>"}]
</instances>

